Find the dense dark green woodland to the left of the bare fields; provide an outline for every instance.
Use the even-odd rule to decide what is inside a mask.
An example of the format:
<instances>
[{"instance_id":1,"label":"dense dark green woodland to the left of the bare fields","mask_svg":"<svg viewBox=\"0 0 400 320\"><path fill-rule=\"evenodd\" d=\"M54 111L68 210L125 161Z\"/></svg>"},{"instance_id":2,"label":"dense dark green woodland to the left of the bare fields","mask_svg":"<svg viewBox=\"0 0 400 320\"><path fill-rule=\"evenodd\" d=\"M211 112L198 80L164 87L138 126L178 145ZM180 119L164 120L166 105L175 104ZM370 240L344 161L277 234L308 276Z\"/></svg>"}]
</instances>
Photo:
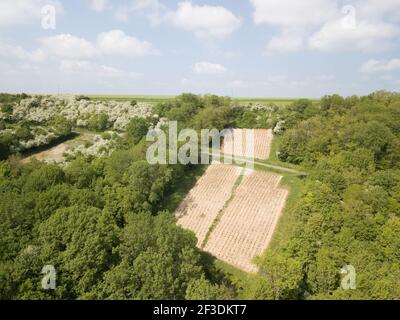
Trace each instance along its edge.
<instances>
[{"instance_id":1,"label":"dense dark green woodland to the left of the bare fields","mask_svg":"<svg viewBox=\"0 0 400 320\"><path fill-rule=\"evenodd\" d=\"M201 112L200 100L184 95L169 112ZM147 163L150 120L134 118L109 157L80 157L65 168L21 165L18 156L0 163L2 299L233 297L195 236L164 208L193 168ZM57 270L54 291L41 287L44 265Z\"/></svg>"}]
</instances>

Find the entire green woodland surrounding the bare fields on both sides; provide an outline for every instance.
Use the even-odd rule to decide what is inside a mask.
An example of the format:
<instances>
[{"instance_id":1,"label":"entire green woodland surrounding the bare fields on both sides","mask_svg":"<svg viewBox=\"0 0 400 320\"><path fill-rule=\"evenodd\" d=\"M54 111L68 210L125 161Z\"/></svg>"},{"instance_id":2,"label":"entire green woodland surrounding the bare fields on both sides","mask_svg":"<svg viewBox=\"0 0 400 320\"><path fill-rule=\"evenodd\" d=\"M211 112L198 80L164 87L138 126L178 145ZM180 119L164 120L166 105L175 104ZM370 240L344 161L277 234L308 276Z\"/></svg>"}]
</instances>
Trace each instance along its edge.
<instances>
[{"instance_id":1,"label":"entire green woodland surrounding the bare fields on both sides","mask_svg":"<svg viewBox=\"0 0 400 320\"><path fill-rule=\"evenodd\" d=\"M149 165L143 138L154 118L133 118L109 156L0 162L1 299L400 298L399 94L285 108L184 94L153 114L182 128L274 128L279 160L309 173L259 274L231 281L175 224L168 202L197 168ZM57 270L55 290L41 287L44 265ZM357 290L340 287L344 265Z\"/></svg>"}]
</instances>

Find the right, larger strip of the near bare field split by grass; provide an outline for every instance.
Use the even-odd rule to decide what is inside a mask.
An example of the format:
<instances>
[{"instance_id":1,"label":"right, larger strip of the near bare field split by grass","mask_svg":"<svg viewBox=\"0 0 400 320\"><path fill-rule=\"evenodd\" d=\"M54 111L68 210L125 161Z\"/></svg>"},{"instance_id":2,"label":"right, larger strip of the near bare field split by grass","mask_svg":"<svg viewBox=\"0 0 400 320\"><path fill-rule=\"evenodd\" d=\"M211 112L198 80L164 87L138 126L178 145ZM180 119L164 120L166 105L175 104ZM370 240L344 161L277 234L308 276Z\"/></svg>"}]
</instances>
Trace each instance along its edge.
<instances>
[{"instance_id":1,"label":"right, larger strip of the near bare field split by grass","mask_svg":"<svg viewBox=\"0 0 400 320\"><path fill-rule=\"evenodd\" d=\"M256 272L252 259L267 248L288 195L278 187L280 179L260 172L244 176L205 251L241 270Z\"/></svg>"}]
</instances>

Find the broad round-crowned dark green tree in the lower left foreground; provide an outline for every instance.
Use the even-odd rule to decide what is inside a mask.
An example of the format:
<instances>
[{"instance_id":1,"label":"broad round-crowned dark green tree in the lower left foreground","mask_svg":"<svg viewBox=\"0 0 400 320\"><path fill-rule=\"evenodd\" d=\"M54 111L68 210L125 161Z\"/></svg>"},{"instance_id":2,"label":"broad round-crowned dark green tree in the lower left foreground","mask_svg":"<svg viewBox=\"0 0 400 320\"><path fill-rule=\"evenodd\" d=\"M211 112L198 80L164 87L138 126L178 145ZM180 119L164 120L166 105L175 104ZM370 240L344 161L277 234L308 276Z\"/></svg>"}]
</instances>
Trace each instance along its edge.
<instances>
[{"instance_id":1,"label":"broad round-crowned dark green tree in the lower left foreground","mask_svg":"<svg viewBox=\"0 0 400 320\"><path fill-rule=\"evenodd\" d=\"M39 226L41 256L58 270L59 286L68 288L64 298L91 292L116 261L118 227L107 211L91 207L57 210Z\"/></svg>"}]
</instances>

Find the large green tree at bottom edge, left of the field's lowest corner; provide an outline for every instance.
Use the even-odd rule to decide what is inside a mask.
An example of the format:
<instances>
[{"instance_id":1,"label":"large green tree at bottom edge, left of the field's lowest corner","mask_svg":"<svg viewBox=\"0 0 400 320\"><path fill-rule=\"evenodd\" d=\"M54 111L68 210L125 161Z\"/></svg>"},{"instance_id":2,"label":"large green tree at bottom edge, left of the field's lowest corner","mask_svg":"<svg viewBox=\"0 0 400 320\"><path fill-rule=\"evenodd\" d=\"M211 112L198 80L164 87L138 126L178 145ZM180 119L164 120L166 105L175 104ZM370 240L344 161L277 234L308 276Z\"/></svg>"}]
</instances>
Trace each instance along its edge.
<instances>
[{"instance_id":1,"label":"large green tree at bottom edge, left of the field's lowest corner","mask_svg":"<svg viewBox=\"0 0 400 320\"><path fill-rule=\"evenodd\" d=\"M169 213L128 217L119 247L121 263L106 273L104 298L184 299L203 274L196 239Z\"/></svg>"}]
</instances>

